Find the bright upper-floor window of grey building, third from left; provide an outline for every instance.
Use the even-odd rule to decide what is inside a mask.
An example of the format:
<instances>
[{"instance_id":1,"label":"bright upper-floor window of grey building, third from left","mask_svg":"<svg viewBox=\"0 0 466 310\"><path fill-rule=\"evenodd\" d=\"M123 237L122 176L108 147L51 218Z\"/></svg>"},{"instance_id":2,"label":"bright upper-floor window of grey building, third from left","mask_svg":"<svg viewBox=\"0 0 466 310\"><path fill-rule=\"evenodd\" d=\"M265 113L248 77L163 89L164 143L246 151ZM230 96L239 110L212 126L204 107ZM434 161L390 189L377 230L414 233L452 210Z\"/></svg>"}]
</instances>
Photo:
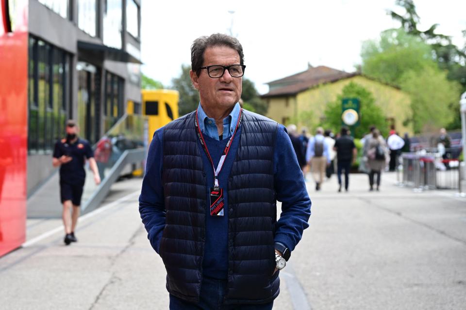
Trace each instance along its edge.
<instances>
[{"instance_id":1,"label":"bright upper-floor window of grey building, third from left","mask_svg":"<svg viewBox=\"0 0 466 310\"><path fill-rule=\"evenodd\" d=\"M122 13L121 0L105 0L103 7L103 44L108 47L122 48Z\"/></svg>"}]
</instances>

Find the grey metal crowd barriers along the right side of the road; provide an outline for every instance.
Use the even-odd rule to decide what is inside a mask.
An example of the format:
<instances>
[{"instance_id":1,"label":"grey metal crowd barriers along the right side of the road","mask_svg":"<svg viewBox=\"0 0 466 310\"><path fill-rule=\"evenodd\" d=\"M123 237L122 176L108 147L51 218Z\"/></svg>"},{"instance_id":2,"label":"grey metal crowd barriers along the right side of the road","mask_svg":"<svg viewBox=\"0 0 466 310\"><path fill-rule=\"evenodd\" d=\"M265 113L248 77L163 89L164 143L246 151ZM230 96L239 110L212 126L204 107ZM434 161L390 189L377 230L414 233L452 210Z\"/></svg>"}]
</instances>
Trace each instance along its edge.
<instances>
[{"instance_id":1,"label":"grey metal crowd barriers along the right side of the road","mask_svg":"<svg viewBox=\"0 0 466 310\"><path fill-rule=\"evenodd\" d=\"M416 189L460 189L460 165L457 159L443 159L439 153L403 153L401 186ZM399 173L399 172L398 172Z\"/></svg>"}]
</instances>

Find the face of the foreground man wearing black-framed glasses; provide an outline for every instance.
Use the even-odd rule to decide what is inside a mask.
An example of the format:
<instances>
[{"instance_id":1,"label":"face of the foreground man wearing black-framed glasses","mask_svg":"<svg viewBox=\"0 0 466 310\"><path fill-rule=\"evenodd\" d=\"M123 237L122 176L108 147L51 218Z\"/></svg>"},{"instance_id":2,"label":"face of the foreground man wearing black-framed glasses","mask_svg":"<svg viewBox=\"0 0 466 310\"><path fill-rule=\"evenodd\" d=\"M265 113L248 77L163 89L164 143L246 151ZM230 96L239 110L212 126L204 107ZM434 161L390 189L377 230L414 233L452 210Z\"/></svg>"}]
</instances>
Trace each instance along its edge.
<instances>
[{"instance_id":1,"label":"face of the foreground man wearing black-framed glasses","mask_svg":"<svg viewBox=\"0 0 466 310\"><path fill-rule=\"evenodd\" d=\"M210 65L228 66L240 64L239 54L231 47L208 47L204 52L203 67ZM241 97L243 78L233 78L225 70L221 78L211 78L207 69L200 71L199 77L190 72L194 87L199 90L200 102L204 109L229 109Z\"/></svg>"}]
</instances>

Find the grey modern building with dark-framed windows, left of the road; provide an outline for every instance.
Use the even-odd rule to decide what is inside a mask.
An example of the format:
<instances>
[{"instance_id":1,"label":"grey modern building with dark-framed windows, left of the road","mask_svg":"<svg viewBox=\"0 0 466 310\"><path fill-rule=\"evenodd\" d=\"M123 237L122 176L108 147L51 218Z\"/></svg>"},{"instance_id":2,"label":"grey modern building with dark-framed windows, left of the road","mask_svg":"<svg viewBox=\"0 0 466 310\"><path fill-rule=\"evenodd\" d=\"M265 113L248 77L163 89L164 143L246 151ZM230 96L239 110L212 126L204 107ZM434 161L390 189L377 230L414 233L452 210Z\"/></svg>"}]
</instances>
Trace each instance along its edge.
<instances>
[{"instance_id":1,"label":"grey modern building with dark-framed windows, left of the road","mask_svg":"<svg viewBox=\"0 0 466 310\"><path fill-rule=\"evenodd\" d=\"M53 171L67 119L94 144L140 105L140 11L140 0L29 0L28 195Z\"/></svg>"}]
</instances>

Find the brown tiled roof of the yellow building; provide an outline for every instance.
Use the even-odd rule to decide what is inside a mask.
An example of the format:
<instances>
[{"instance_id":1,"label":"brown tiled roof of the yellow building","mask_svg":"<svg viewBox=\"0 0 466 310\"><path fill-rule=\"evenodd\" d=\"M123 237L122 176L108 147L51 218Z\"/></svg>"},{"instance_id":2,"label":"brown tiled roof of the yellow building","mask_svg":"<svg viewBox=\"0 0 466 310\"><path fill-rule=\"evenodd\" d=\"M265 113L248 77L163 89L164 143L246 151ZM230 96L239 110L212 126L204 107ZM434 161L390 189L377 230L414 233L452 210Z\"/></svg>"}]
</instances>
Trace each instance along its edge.
<instances>
[{"instance_id":1,"label":"brown tiled roof of the yellow building","mask_svg":"<svg viewBox=\"0 0 466 310\"><path fill-rule=\"evenodd\" d=\"M310 67L304 72L268 82L270 91L262 97L294 95L322 83L331 83L356 75L358 73L348 73L326 66Z\"/></svg>"}]
</instances>

